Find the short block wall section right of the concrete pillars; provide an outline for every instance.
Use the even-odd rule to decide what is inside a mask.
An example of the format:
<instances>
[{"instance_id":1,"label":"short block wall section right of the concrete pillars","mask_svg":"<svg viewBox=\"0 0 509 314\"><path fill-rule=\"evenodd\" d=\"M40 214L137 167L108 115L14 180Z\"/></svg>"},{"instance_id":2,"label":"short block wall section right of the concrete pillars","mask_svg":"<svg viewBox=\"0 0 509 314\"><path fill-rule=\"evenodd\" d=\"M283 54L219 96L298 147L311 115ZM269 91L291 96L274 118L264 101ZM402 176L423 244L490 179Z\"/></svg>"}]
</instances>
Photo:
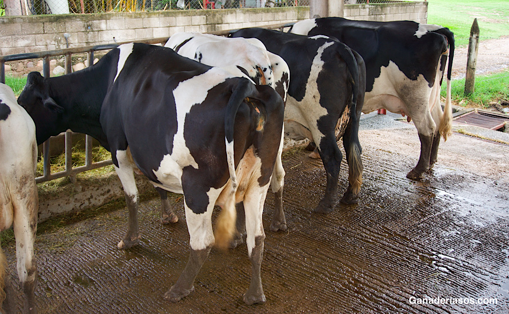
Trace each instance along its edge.
<instances>
[{"instance_id":1,"label":"short block wall section right of the concrete pillars","mask_svg":"<svg viewBox=\"0 0 509 314\"><path fill-rule=\"evenodd\" d=\"M428 2L391 2L380 4L345 5L344 17L353 20L428 22Z\"/></svg>"}]
</instances>

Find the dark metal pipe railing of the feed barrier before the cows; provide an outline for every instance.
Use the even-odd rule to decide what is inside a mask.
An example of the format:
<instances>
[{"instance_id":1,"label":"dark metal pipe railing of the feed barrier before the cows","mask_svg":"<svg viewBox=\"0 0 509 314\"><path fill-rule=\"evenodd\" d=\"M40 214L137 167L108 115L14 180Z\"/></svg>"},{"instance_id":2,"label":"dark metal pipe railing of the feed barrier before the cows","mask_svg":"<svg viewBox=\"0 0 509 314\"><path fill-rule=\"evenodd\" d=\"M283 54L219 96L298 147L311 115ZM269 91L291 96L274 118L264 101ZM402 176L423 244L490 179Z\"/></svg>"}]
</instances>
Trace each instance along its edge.
<instances>
[{"instance_id":1,"label":"dark metal pipe railing of the feed barrier before the cows","mask_svg":"<svg viewBox=\"0 0 509 314\"><path fill-rule=\"evenodd\" d=\"M291 27L294 23L282 23L282 24L273 24L268 25L265 28L268 29L279 29L280 31L283 31L284 28ZM216 31L216 32L209 32L208 34L218 35L218 36L228 36L232 30L227 31ZM99 50L108 50L115 47L118 47L125 43L131 43L131 42L139 42L139 43L146 43L146 44L164 44L166 41L168 41L169 37L159 37L159 38L153 38L153 39L147 39L147 40L137 40L137 41L127 41L127 42L121 42L121 43L114 43L114 44L102 44L102 45L95 45L95 46L85 46L85 47L74 47L74 48L65 48L65 49L56 49L56 50L48 50L48 51L40 51L37 53L26 53L26 54L17 54L17 55L8 55L8 56L0 56L0 83L5 84L5 63L8 61L19 61L19 60L27 60L27 59L37 59L42 58L43 59L43 76L44 77L50 77L50 67L49 67L49 61L50 57L56 57L56 56L64 56L64 63L65 63L65 73L71 73L72 72L72 66L71 66L71 56L73 54L82 54L87 53L87 60L89 66L91 64L94 64L94 51ZM96 168L101 168L104 166L108 166L112 164L111 159L93 163L92 162L92 137L87 135L85 138L85 165L72 168L72 140L71 140L72 132L70 130L67 130L65 132L65 170L51 173L51 164L50 164L50 154L49 154L49 143L51 141L51 138L48 139L43 144L43 175L36 178L37 183L58 179L61 177L69 176L69 179L71 182L76 181L76 174L80 172L84 172L87 170L92 170Z\"/></svg>"}]
</instances>

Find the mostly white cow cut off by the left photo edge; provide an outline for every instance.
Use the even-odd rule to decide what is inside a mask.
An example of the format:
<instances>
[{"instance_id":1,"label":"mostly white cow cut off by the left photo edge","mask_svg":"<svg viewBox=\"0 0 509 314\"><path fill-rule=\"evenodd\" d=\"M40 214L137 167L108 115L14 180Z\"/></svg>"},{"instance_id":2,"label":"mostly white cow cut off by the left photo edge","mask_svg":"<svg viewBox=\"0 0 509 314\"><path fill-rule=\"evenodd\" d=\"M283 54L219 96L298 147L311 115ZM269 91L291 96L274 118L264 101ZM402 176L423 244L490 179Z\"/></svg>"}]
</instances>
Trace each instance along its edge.
<instances>
[{"instance_id":1,"label":"mostly white cow cut off by the left photo edge","mask_svg":"<svg viewBox=\"0 0 509 314\"><path fill-rule=\"evenodd\" d=\"M12 89L0 83L0 232L14 228L17 271L25 295L23 313L37 313L34 294L37 284L34 240L39 208L36 166L34 121L16 102ZM0 309L14 314L18 313L17 298L6 267L7 260L0 248Z\"/></svg>"}]
</instances>

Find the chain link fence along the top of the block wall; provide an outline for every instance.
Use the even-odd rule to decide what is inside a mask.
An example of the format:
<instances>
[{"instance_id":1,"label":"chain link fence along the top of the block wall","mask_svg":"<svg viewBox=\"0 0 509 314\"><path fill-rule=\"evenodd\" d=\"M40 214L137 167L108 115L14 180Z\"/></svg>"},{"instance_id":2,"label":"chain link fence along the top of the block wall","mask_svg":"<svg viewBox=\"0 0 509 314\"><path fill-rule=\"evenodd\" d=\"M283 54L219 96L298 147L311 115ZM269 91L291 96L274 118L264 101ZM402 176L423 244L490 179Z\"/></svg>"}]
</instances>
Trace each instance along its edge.
<instances>
[{"instance_id":1,"label":"chain link fence along the top of the block wall","mask_svg":"<svg viewBox=\"0 0 509 314\"><path fill-rule=\"evenodd\" d=\"M343 0L379 4L404 0ZM414 0L415 1L415 0ZM309 6L310 0L0 0L0 16Z\"/></svg>"}]
</instances>

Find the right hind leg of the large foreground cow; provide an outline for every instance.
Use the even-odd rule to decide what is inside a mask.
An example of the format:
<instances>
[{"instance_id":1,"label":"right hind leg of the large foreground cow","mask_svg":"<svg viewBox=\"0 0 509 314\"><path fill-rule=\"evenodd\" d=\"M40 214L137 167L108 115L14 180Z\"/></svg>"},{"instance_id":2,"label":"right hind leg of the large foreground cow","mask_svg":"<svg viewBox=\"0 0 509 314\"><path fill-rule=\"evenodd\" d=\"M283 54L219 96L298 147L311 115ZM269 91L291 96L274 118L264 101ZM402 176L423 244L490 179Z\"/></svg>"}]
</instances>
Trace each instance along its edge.
<instances>
[{"instance_id":1,"label":"right hind leg of the large foreground cow","mask_svg":"<svg viewBox=\"0 0 509 314\"><path fill-rule=\"evenodd\" d=\"M254 303L265 303L263 293L261 265L263 259L263 248L265 231L262 224L263 205L267 195L268 185L265 187L251 188L244 196L244 209L246 215L246 243L247 253L251 261L251 282L249 289L244 294L244 302L247 305Z\"/></svg>"}]
</instances>

